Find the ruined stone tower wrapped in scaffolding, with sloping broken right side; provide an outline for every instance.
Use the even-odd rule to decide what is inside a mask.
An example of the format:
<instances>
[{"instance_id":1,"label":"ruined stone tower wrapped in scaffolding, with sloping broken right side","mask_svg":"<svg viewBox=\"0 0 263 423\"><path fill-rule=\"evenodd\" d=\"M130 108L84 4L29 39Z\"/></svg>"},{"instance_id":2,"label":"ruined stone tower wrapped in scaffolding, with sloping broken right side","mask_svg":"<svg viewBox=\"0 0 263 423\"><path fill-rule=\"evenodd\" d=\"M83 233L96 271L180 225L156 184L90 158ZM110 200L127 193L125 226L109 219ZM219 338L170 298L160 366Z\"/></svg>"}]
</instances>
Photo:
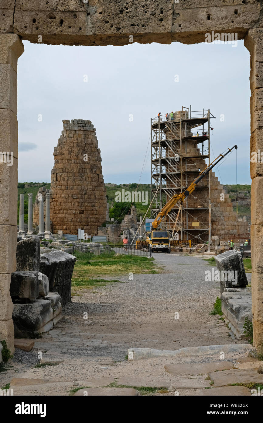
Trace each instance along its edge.
<instances>
[{"instance_id":1,"label":"ruined stone tower wrapped in scaffolding, with sloping broken right side","mask_svg":"<svg viewBox=\"0 0 263 423\"><path fill-rule=\"evenodd\" d=\"M151 120L151 217L170 198L184 192L210 163L210 110L193 112L186 107ZM229 147L232 147L229 146ZM210 210L210 211L209 211ZM247 222L238 220L229 195L214 172L209 172L186 200L170 211L163 229L179 239L206 242L211 236L228 241L246 239Z\"/></svg>"}]
</instances>

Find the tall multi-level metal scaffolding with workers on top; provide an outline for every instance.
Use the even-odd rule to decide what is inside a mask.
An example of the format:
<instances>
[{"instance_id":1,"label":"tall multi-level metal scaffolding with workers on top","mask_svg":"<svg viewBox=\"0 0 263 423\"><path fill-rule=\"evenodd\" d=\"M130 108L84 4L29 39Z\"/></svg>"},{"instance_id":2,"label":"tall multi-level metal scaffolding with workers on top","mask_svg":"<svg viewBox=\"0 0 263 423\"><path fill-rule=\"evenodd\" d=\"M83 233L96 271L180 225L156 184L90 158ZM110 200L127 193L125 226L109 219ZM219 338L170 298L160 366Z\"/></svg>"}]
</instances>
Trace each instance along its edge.
<instances>
[{"instance_id":1,"label":"tall multi-level metal scaffolding with workers on top","mask_svg":"<svg viewBox=\"0 0 263 423\"><path fill-rule=\"evenodd\" d=\"M210 110L191 106L151 119L151 208L154 219L165 203L183 192L210 164ZM177 239L211 242L210 173L180 207L177 203L162 229Z\"/></svg>"}]
</instances>

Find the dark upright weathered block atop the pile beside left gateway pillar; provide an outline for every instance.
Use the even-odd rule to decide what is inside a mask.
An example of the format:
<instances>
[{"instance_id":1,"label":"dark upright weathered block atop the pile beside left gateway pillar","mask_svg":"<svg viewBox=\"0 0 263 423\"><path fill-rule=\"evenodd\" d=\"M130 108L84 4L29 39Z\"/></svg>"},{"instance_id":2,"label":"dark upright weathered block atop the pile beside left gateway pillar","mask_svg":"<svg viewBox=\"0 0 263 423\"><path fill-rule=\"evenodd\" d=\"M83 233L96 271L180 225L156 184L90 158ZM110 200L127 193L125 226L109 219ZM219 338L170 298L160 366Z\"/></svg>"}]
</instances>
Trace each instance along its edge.
<instances>
[{"instance_id":1,"label":"dark upright weathered block atop the pile beside left gateway pillar","mask_svg":"<svg viewBox=\"0 0 263 423\"><path fill-rule=\"evenodd\" d=\"M16 270L38 272L40 261L40 239L33 235L16 245Z\"/></svg>"}]
</instances>

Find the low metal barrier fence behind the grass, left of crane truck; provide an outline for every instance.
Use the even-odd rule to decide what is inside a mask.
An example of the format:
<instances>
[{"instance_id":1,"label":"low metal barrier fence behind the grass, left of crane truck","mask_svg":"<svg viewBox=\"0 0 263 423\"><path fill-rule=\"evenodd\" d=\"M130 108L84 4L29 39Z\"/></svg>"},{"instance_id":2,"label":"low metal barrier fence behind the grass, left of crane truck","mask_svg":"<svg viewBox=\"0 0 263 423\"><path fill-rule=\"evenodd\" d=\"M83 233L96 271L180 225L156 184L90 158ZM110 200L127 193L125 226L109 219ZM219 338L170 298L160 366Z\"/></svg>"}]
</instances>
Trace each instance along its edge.
<instances>
[{"instance_id":1,"label":"low metal barrier fence behind the grass, left of crane truck","mask_svg":"<svg viewBox=\"0 0 263 423\"><path fill-rule=\"evenodd\" d=\"M104 244L73 244L73 251L79 251L81 253L93 253L95 255L99 254L109 254L114 252L115 254L124 254L124 255L138 255L141 257L151 257L151 251L148 251L147 248L137 250L136 244L128 245L104 245Z\"/></svg>"}]
</instances>

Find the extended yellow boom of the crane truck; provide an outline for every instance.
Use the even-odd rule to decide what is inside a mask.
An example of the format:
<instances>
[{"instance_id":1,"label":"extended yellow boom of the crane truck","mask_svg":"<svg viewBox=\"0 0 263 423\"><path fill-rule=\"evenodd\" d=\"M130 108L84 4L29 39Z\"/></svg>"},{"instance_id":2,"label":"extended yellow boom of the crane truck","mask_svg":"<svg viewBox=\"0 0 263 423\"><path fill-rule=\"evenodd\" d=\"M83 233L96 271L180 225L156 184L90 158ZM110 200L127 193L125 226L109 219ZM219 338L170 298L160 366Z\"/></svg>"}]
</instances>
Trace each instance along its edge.
<instances>
[{"instance_id":1,"label":"extended yellow boom of the crane truck","mask_svg":"<svg viewBox=\"0 0 263 423\"><path fill-rule=\"evenodd\" d=\"M213 162L210 163L202 172L199 173L199 176L192 182L192 184L185 190L184 192L180 192L179 194L175 194L166 204L163 206L162 210L157 214L155 220L152 222L152 230L158 229L160 223L162 222L163 218L166 217L171 211L171 209L176 205L178 201L183 202L188 195L190 195L195 190L195 185L198 184L207 173L210 172L214 166L217 165L233 148L237 149L237 146L233 146L232 148L228 148L225 154L220 154Z\"/></svg>"}]
</instances>

